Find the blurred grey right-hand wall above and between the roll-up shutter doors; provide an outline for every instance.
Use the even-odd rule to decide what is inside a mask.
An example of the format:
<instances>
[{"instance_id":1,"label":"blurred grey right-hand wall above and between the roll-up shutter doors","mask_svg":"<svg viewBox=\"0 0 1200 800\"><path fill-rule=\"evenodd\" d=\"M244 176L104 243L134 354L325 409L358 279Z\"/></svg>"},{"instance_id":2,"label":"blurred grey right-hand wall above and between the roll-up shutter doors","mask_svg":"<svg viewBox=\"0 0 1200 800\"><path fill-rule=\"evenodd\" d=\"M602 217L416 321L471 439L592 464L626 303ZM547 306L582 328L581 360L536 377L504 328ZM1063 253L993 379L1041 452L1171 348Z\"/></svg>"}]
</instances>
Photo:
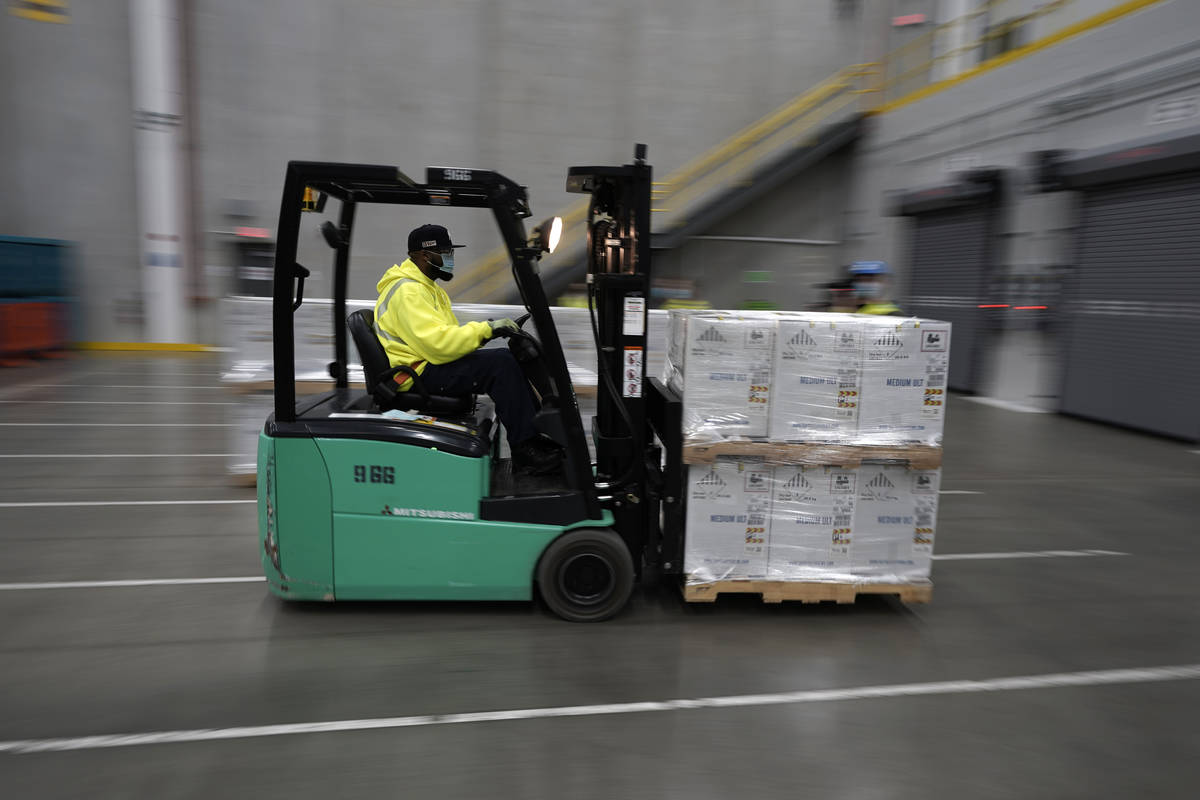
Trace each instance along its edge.
<instances>
[{"instance_id":1,"label":"blurred grey right-hand wall above and between the roll-up shutter doors","mask_svg":"<svg viewBox=\"0 0 1200 800\"><path fill-rule=\"evenodd\" d=\"M1069 7L1102 11L1080 0ZM1066 12L1064 12L1066 13ZM890 192L944 184L971 167L1002 167L1013 182L1003 213L996 291L1052 291L1073 260L1076 198L1033 191L1031 154L1086 150L1184 130L1196 118L1162 121L1165 101L1200 96L1200 2L1166 0L1079 37L877 116L860 143L846 209L847 260L882 258L902 287L910 222L887 216ZM997 339L991 391L1028 401L1055 391L1052 338L1030 337L1036 315L1009 318ZM1022 330L1025 329L1025 330ZM1025 350L1013 354L1010 342ZM1031 363L1031 360L1036 363ZM1039 366L1040 365L1040 366ZM1018 374L1034 374L1021 381Z\"/></svg>"}]
</instances>

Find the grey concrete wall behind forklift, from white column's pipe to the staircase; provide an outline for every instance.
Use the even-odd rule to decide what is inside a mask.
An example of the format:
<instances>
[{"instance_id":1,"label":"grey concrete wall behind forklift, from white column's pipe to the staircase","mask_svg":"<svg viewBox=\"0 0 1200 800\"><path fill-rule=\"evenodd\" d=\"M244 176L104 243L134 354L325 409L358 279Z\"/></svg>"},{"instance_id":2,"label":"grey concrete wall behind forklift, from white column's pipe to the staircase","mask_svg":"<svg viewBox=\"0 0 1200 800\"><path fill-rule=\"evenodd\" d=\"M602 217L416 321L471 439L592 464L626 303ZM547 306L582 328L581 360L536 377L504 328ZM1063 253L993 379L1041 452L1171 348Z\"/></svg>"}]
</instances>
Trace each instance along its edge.
<instances>
[{"instance_id":1,"label":"grey concrete wall behind forklift, from white column's pipe to the staircase","mask_svg":"<svg viewBox=\"0 0 1200 800\"><path fill-rule=\"evenodd\" d=\"M289 158L497 169L529 186L538 219L577 198L571 164L625 163L634 144L665 175L857 59L858 20L829 4L595 4L442 0L336 6L211 0L196 17L204 227L229 201L274 230ZM334 204L331 204L334 205ZM361 210L352 296L403 258L408 229L438 221L464 269L499 246L479 211ZM535 221L530 221L535 222ZM227 242L206 240L209 264ZM301 261L328 281L316 224ZM547 267L553 266L547 259ZM462 278L460 278L460 282ZM451 291L454 284L450 285Z\"/></svg>"}]
</instances>

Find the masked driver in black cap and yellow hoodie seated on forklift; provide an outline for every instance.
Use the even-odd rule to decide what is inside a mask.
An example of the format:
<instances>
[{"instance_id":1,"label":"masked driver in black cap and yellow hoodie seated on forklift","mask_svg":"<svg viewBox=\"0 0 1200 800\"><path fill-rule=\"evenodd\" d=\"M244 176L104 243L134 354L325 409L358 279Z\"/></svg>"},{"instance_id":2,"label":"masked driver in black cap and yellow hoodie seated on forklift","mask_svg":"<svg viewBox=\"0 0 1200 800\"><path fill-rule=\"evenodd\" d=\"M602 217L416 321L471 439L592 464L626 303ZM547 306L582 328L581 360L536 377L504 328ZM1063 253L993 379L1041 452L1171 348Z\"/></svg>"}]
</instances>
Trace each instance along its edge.
<instances>
[{"instance_id":1,"label":"masked driver in black cap and yellow hoodie seated on forklift","mask_svg":"<svg viewBox=\"0 0 1200 800\"><path fill-rule=\"evenodd\" d=\"M391 366L407 363L431 395L486 393L508 432L514 465L534 475L562 467L562 451L534 428L536 401L508 348L479 348L520 327L511 319L460 325L450 296L436 281L454 277L454 251L442 225L421 225L408 234L408 258L384 272L376 287L376 336ZM412 389L396 375L400 391Z\"/></svg>"}]
</instances>

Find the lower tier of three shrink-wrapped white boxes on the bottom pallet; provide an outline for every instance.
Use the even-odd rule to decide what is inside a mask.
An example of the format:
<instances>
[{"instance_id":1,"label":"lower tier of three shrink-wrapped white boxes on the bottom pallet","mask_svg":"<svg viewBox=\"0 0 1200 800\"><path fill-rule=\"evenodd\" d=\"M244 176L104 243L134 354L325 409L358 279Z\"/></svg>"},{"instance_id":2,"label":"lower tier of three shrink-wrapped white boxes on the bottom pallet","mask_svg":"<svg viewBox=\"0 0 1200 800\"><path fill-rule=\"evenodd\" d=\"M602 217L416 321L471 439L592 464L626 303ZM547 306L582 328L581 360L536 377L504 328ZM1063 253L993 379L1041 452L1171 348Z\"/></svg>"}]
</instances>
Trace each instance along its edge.
<instances>
[{"instance_id":1,"label":"lower tier of three shrink-wrapped white boxes on the bottom pallet","mask_svg":"<svg viewBox=\"0 0 1200 800\"><path fill-rule=\"evenodd\" d=\"M941 470L755 457L688 468L689 582L928 581Z\"/></svg>"}]
</instances>

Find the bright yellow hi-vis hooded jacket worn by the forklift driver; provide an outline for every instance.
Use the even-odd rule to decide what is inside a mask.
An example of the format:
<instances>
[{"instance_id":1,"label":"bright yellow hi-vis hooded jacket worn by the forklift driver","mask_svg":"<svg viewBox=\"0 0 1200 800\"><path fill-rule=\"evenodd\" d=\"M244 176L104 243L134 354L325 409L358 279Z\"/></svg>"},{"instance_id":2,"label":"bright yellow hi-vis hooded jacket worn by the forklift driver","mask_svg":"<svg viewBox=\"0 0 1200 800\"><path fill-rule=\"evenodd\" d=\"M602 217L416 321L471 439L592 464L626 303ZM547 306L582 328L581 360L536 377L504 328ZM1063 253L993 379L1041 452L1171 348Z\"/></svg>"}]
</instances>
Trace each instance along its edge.
<instances>
[{"instance_id":1,"label":"bright yellow hi-vis hooded jacket worn by the forklift driver","mask_svg":"<svg viewBox=\"0 0 1200 800\"><path fill-rule=\"evenodd\" d=\"M460 325L450 295L412 259L394 264L376 289L376 336L394 367L407 363L421 374L428 363L448 363L474 353L492 336L487 323ZM404 374L396 375L396 383L401 391L413 384Z\"/></svg>"}]
</instances>

